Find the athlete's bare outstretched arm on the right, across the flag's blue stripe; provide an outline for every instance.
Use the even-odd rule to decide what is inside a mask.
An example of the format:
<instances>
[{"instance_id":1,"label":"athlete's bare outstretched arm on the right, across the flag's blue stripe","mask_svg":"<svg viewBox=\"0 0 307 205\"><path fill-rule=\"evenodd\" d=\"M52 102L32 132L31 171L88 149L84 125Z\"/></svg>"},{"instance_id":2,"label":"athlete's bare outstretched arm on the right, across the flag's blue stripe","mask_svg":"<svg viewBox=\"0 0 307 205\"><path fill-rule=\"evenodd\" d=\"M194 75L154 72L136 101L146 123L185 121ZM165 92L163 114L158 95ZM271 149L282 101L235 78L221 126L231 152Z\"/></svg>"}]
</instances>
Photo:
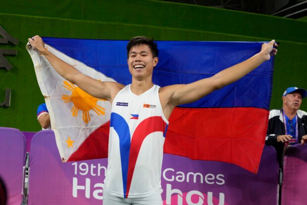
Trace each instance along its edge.
<instances>
[{"instance_id":1,"label":"athlete's bare outstretched arm on the right, across the flag's blue stripe","mask_svg":"<svg viewBox=\"0 0 307 205\"><path fill-rule=\"evenodd\" d=\"M212 91L222 88L251 72L263 62L268 61L271 55L277 54L275 40L262 44L261 51L248 60L226 68L212 77L198 80L190 84L170 85L160 89L161 103L164 114L172 111L176 106L199 100ZM170 113L169 113L170 114Z\"/></svg>"}]
</instances>

